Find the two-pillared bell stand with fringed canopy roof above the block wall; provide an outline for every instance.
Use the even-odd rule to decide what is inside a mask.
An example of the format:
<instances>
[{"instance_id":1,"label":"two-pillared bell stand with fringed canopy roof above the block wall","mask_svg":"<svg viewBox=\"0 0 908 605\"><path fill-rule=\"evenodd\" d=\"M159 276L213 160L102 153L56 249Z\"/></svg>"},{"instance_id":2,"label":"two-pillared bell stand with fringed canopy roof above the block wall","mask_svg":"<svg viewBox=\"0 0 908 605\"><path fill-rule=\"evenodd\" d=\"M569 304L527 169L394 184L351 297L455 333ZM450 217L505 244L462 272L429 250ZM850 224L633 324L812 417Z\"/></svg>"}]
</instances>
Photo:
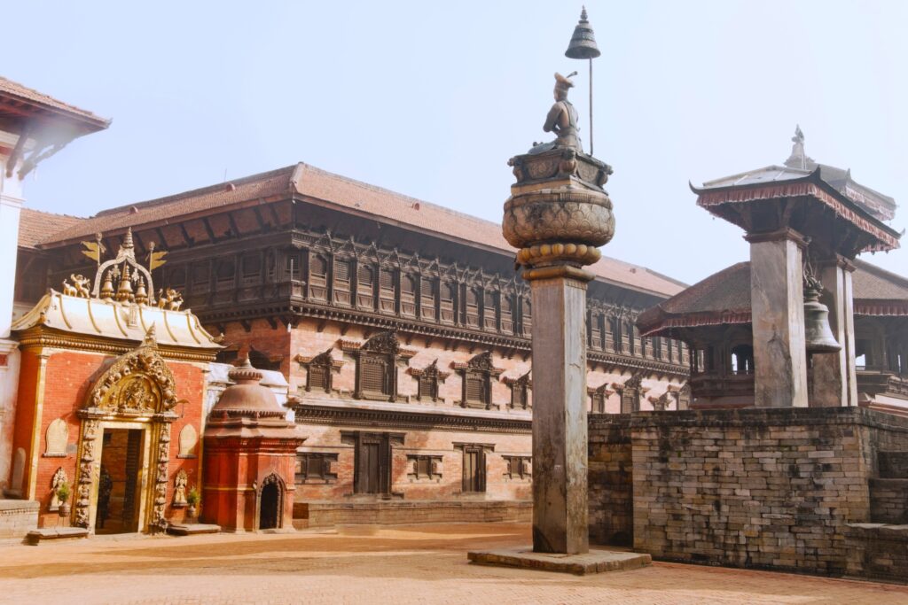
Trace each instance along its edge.
<instances>
[{"instance_id":1,"label":"two-pillared bell stand with fringed canopy roof above the block wall","mask_svg":"<svg viewBox=\"0 0 908 605\"><path fill-rule=\"evenodd\" d=\"M750 242L755 405L857 405L851 261L861 252L898 248L899 234L858 203L860 197L849 197L854 194L848 187L836 188L836 181L824 178L824 170L838 169L804 154L800 128L792 141L785 166L691 189L698 206L745 229ZM841 346L835 352L808 356L804 267L822 287L821 302ZM813 373L809 394L808 364Z\"/></svg>"}]
</instances>

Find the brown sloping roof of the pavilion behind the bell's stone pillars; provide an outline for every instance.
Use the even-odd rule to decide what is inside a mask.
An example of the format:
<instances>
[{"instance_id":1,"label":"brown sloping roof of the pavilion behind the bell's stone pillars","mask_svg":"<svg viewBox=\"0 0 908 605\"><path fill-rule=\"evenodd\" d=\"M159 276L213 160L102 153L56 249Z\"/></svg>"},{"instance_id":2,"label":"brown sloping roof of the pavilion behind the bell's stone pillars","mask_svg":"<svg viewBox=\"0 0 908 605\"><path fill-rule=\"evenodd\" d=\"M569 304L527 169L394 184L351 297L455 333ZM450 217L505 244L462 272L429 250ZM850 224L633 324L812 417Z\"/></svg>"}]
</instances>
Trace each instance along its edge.
<instances>
[{"instance_id":1,"label":"brown sloping roof of the pavilion behind the bell's stone pillars","mask_svg":"<svg viewBox=\"0 0 908 605\"><path fill-rule=\"evenodd\" d=\"M908 278L864 260L854 264L856 315L908 317ZM637 317L643 336L667 336L672 328L750 322L749 262L724 268Z\"/></svg>"}]
</instances>

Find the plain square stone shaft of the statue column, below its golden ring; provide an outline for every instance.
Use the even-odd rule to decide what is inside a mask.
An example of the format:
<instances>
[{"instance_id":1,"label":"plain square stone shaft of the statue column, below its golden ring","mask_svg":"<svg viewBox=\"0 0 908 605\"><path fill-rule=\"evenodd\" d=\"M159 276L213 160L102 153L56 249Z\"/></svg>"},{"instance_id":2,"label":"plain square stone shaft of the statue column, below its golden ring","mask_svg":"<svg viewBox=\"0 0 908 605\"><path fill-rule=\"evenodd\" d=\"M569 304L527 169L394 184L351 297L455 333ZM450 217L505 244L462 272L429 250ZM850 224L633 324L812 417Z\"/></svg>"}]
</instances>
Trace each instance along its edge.
<instances>
[{"instance_id":1,"label":"plain square stone shaft of the statue column, below its golden ring","mask_svg":"<svg viewBox=\"0 0 908 605\"><path fill-rule=\"evenodd\" d=\"M528 271L533 293L533 551L589 550L586 271Z\"/></svg>"}]
</instances>

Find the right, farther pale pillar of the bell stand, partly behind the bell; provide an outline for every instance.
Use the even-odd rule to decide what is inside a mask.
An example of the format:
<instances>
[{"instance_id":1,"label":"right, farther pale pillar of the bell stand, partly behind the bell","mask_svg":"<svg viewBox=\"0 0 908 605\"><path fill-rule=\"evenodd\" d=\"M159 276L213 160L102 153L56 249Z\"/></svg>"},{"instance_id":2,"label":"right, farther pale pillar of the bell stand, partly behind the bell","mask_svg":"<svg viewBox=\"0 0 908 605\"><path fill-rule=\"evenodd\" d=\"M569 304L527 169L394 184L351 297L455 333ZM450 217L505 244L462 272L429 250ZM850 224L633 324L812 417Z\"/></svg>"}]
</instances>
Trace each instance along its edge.
<instances>
[{"instance_id":1,"label":"right, farther pale pillar of the bell stand, partly behind the bell","mask_svg":"<svg viewBox=\"0 0 908 605\"><path fill-rule=\"evenodd\" d=\"M820 266L824 294L821 302L829 307L829 327L842 345L838 353L814 354L813 394L810 405L839 407L857 405L857 376L854 372L854 264L844 257Z\"/></svg>"}]
</instances>

